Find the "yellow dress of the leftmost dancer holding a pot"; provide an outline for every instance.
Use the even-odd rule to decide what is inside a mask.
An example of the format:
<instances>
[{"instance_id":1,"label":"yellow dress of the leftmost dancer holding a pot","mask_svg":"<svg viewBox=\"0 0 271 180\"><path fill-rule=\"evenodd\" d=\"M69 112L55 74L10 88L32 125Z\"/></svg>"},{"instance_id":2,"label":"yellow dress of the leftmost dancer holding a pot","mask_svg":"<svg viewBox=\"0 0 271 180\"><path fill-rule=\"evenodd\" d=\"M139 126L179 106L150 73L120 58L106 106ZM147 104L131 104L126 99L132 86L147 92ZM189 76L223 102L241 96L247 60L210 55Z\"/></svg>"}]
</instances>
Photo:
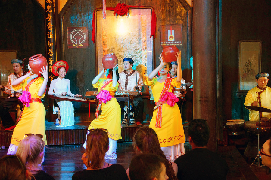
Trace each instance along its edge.
<instances>
[{"instance_id":1,"label":"yellow dress of the leftmost dancer holding a pot","mask_svg":"<svg viewBox=\"0 0 271 180\"><path fill-rule=\"evenodd\" d=\"M29 77L21 82L23 91L27 85L27 79L29 79ZM45 92L42 96L38 96L38 91L42 85L43 79L43 77L39 77L30 85L29 92L31 98L41 99L45 96ZM17 90L16 87L17 86L12 86L15 91ZM24 135L28 133L42 134L45 145L47 144L45 135L45 108L42 103L33 102L29 103L29 107L24 107L20 121L13 131L11 144L18 146L20 141L23 140Z\"/></svg>"}]
</instances>

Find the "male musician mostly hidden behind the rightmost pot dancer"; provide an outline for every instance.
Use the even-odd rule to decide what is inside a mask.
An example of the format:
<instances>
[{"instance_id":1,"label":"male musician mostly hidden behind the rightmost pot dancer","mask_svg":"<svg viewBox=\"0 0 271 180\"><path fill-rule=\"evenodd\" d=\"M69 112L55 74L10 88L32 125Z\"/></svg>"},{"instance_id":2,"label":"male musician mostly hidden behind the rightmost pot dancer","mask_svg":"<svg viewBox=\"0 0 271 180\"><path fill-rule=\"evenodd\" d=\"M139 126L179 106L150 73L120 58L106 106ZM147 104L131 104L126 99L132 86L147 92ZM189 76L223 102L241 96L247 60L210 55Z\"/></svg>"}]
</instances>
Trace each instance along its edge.
<instances>
[{"instance_id":1,"label":"male musician mostly hidden behind the rightmost pot dancer","mask_svg":"<svg viewBox=\"0 0 271 180\"><path fill-rule=\"evenodd\" d=\"M170 78L176 78L177 77L177 68L178 68L178 64L177 64L177 61L173 61L171 62L172 64L172 68L170 70ZM185 84L185 80L182 78L181 79L181 84ZM184 101L184 97L185 97L185 94L186 94L186 87L182 87L180 86L179 88L178 87L175 87L174 90L173 90L173 93L176 95L177 98L179 98L179 101L177 102L177 105L179 107L179 109L181 110L182 109L182 103Z\"/></svg>"}]
</instances>

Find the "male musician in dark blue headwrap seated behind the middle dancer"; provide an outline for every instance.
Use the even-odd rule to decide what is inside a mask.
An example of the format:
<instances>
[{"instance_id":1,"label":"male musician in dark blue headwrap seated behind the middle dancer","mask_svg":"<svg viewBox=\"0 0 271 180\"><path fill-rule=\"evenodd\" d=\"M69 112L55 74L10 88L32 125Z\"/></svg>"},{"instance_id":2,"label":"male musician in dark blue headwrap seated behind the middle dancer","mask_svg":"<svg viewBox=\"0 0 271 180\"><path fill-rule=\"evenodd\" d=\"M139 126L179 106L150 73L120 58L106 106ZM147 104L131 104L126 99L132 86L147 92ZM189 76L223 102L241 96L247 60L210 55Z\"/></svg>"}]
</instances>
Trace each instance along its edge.
<instances>
[{"instance_id":1,"label":"male musician in dark blue headwrap seated behind the middle dancer","mask_svg":"<svg viewBox=\"0 0 271 180\"><path fill-rule=\"evenodd\" d=\"M133 70L134 61L132 58L123 58L123 66L124 71L120 73L120 79L118 82L120 83L118 91L139 91L139 94L142 95L142 86L143 80L140 73L136 70ZM131 101L136 107L136 111L134 113L134 118L136 121L136 125L142 125L143 122L143 107L144 102L142 98L137 95L131 97Z\"/></svg>"}]
</instances>

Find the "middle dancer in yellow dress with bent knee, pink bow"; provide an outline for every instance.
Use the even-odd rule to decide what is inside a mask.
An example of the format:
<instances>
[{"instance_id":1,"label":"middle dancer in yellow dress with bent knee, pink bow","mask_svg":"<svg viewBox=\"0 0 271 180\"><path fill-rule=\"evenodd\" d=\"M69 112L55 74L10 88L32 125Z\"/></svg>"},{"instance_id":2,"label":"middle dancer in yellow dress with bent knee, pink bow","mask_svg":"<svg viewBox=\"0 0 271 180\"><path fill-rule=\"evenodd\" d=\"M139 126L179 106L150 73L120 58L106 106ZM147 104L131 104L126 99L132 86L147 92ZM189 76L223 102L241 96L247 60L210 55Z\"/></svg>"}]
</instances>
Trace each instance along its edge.
<instances>
[{"instance_id":1,"label":"middle dancer in yellow dress with bent knee, pink bow","mask_svg":"<svg viewBox=\"0 0 271 180\"><path fill-rule=\"evenodd\" d=\"M117 82L117 66L118 65L116 65L113 69L101 71L92 81L93 87L98 88L99 94L97 95L97 99L99 99L100 102L95 113L96 119L90 123L88 129L107 129L109 137L109 150L105 154L105 159L117 158L117 140L121 139L121 109L116 98L114 98L115 92L119 88L119 84ZM107 78L101 78L103 74ZM101 115L98 116L99 110L101 110ZM88 133L86 135L86 140ZM86 142L83 144L83 146L86 148Z\"/></svg>"}]
</instances>

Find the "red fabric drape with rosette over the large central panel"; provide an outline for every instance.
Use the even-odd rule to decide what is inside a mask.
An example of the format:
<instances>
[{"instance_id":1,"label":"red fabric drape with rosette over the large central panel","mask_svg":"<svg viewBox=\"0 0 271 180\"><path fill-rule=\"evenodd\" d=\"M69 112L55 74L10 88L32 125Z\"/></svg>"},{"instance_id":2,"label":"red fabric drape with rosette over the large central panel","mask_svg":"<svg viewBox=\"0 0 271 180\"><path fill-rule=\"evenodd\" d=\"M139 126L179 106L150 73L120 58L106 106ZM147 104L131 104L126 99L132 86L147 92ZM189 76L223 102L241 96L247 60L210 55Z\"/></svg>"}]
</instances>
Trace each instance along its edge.
<instances>
[{"instance_id":1,"label":"red fabric drape with rosette over the large central panel","mask_svg":"<svg viewBox=\"0 0 271 180\"><path fill-rule=\"evenodd\" d=\"M119 3L120 4L120 3ZM124 4L124 3L122 3ZM124 4L125 5L125 4ZM125 8L127 7L127 13L128 13L128 9L129 7L146 7L146 6L126 6L125 5ZM151 7L151 6L150 6ZM117 6L116 7L107 7L105 8L106 10L114 10L114 15L116 14L115 11L116 11L116 8L118 8ZM153 7L152 7L153 8ZM96 8L96 9L102 9L102 8ZM95 10L96 10L95 9ZM92 16L92 37L91 37L91 40L93 41L93 43L95 43L95 10L93 11L93 16ZM126 13L126 14L127 14ZM124 14L123 14L124 15ZM127 16L127 15L126 15ZM153 8L153 11L152 11L152 14L151 14L151 36L153 36L155 38L155 28L156 28L156 14L154 12L154 8Z\"/></svg>"}]
</instances>

